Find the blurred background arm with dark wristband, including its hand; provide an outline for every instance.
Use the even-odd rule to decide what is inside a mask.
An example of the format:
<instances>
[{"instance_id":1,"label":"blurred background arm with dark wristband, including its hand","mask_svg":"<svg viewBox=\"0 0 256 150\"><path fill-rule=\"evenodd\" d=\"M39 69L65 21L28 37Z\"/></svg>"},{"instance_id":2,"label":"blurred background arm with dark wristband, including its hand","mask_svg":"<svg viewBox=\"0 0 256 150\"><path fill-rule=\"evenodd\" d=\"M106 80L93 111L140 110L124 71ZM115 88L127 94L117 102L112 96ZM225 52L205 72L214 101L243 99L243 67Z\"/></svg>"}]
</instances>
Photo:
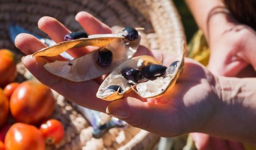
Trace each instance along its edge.
<instances>
[{"instance_id":1,"label":"blurred background arm with dark wristband, including its hand","mask_svg":"<svg viewBox=\"0 0 256 150\"><path fill-rule=\"evenodd\" d=\"M218 75L237 76L248 64L254 70L256 32L241 24L220 0L186 0L211 49L208 67Z\"/></svg>"}]
</instances>

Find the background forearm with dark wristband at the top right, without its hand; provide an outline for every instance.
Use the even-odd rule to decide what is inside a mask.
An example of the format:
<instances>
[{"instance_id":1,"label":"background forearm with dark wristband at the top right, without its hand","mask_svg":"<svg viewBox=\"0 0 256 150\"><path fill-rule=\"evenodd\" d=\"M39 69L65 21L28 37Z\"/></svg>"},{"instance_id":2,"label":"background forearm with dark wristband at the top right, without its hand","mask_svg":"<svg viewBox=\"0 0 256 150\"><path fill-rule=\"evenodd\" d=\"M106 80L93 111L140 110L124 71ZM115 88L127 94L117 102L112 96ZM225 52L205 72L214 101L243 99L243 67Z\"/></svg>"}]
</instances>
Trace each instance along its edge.
<instances>
[{"instance_id":1,"label":"background forearm with dark wristband at the top right, without its hand","mask_svg":"<svg viewBox=\"0 0 256 150\"><path fill-rule=\"evenodd\" d=\"M221 0L186 0L207 41L222 34L231 15Z\"/></svg>"}]
</instances>

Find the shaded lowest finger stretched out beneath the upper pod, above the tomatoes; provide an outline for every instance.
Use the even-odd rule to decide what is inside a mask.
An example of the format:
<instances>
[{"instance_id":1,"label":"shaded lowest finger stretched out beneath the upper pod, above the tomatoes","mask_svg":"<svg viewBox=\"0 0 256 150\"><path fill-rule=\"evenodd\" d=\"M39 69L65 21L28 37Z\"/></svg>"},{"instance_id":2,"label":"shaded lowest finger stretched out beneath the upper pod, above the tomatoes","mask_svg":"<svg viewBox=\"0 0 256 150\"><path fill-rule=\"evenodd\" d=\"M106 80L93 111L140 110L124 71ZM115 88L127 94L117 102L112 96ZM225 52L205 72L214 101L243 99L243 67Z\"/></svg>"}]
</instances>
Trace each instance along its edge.
<instances>
[{"instance_id":1,"label":"shaded lowest finger stretched out beneath the upper pod, above the tomatoes","mask_svg":"<svg viewBox=\"0 0 256 150\"><path fill-rule=\"evenodd\" d=\"M42 84L54 89L59 94L65 96L70 101L94 109L105 112L109 102L103 101L96 97L99 85L93 81L72 82L48 72L44 65L48 61L42 57L31 58L31 55L23 58L24 66L37 78Z\"/></svg>"}]
</instances>

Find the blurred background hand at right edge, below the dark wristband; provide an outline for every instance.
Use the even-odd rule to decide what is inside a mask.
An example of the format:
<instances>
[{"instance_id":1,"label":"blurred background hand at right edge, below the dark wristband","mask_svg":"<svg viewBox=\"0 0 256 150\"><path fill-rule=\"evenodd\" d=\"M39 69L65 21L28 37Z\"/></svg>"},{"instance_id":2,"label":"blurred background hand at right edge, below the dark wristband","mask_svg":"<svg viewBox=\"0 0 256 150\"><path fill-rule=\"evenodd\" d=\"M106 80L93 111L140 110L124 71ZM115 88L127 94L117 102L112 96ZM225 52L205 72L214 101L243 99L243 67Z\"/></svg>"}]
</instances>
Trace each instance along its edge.
<instances>
[{"instance_id":1,"label":"blurred background hand at right edge, below the dark wristband","mask_svg":"<svg viewBox=\"0 0 256 150\"><path fill-rule=\"evenodd\" d=\"M212 73L236 77L248 65L255 70L256 32L236 22L229 14L219 14L209 23L211 55L208 68ZM254 70L251 76L255 76Z\"/></svg>"}]
</instances>

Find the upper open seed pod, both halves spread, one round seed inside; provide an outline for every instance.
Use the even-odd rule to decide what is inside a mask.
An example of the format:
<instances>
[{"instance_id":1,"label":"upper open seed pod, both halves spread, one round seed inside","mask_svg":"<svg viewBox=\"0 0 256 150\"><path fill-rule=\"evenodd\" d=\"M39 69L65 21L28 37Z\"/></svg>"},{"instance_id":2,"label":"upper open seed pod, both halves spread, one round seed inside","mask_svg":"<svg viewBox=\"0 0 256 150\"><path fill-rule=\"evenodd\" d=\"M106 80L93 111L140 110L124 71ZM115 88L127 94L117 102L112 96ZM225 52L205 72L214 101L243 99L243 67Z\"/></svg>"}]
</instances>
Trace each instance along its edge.
<instances>
[{"instance_id":1,"label":"upper open seed pod, both halves spread, one round seed inside","mask_svg":"<svg viewBox=\"0 0 256 150\"><path fill-rule=\"evenodd\" d=\"M112 71L118 65L130 59L140 43L140 35L136 40L128 41L121 34L91 35L58 43L41 49L33 56L56 56L70 48L98 46L95 51L69 61L54 61L44 67L58 77L74 82L88 81Z\"/></svg>"}]
</instances>

